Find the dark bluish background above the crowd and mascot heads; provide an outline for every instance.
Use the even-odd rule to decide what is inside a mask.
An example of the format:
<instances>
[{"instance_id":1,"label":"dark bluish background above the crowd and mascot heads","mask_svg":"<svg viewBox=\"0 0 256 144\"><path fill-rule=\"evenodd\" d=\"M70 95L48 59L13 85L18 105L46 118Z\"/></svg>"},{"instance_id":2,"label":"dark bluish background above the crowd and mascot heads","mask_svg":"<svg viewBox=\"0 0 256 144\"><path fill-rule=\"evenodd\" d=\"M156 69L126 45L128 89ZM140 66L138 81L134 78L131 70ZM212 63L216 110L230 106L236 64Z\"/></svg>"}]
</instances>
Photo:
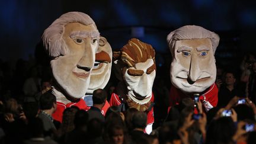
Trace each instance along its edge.
<instances>
[{"instance_id":1,"label":"dark bluish background above the crowd and mascot heads","mask_svg":"<svg viewBox=\"0 0 256 144\"><path fill-rule=\"evenodd\" d=\"M0 58L11 64L33 59L43 30L69 11L90 15L113 49L132 37L152 44L159 65L171 54L166 37L183 25L200 25L220 36L216 60L234 65L244 53L255 52L256 5L253 1L0 1ZM138 28L141 33L132 33Z\"/></svg>"}]
</instances>

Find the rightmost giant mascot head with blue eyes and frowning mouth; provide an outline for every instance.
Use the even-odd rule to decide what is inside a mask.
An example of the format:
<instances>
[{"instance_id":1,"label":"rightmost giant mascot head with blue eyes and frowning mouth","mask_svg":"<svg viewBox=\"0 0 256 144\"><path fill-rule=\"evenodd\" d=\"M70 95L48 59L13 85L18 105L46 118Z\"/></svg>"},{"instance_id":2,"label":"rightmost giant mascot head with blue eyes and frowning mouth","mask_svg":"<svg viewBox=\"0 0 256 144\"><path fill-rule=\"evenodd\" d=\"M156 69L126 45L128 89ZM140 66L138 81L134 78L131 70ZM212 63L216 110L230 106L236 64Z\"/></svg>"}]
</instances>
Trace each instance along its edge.
<instances>
[{"instance_id":1,"label":"rightmost giant mascot head with blue eyes and frowning mouth","mask_svg":"<svg viewBox=\"0 0 256 144\"><path fill-rule=\"evenodd\" d=\"M185 93L200 93L215 82L217 34L203 27L186 25L172 31L167 42L172 54L172 85Z\"/></svg>"}]
</instances>

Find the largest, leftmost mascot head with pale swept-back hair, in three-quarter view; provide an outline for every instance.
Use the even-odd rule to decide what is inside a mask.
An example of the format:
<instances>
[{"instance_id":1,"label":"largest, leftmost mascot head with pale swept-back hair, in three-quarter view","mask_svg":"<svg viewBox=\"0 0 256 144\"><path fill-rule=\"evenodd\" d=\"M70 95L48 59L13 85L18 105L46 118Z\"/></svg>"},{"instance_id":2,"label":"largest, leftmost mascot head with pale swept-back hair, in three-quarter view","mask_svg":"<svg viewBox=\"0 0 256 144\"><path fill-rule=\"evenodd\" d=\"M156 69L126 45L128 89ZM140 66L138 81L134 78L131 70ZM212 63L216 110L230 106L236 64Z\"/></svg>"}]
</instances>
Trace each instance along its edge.
<instances>
[{"instance_id":1,"label":"largest, leftmost mascot head with pale swept-back hair, in three-quarter view","mask_svg":"<svg viewBox=\"0 0 256 144\"><path fill-rule=\"evenodd\" d=\"M77 99L85 95L99 39L94 21L82 12L63 14L44 31L55 87L65 96Z\"/></svg>"}]
</instances>

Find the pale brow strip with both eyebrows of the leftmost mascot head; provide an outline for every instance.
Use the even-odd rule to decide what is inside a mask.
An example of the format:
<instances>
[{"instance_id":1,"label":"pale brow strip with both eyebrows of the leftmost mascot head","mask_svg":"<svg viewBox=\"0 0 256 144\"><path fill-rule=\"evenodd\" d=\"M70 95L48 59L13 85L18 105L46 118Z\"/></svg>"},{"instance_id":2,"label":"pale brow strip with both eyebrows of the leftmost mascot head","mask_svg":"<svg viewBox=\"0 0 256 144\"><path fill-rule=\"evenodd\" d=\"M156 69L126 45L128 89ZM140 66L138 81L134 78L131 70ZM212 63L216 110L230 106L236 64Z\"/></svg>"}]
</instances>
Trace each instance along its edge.
<instances>
[{"instance_id":1,"label":"pale brow strip with both eyebrows of the leftmost mascot head","mask_svg":"<svg viewBox=\"0 0 256 144\"><path fill-rule=\"evenodd\" d=\"M69 37L71 39L75 37L97 37L100 39L100 33L98 31L73 31Z\"/></svg>"}]
</instances>

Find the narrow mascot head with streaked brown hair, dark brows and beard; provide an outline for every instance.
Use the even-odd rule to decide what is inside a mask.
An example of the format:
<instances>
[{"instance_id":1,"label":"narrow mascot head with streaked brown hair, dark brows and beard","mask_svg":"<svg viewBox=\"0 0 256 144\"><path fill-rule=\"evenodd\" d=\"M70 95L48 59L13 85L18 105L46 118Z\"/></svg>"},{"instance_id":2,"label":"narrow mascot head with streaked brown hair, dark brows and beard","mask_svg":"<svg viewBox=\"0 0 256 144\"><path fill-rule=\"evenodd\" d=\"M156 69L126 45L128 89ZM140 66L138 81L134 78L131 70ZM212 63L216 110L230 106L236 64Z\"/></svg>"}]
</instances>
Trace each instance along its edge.
<instances>
[{"instance_id":1,"label":"narrow mascot head with streaked brown hair, dark brows and beard","mask_svg":"<svg viewBox=\"0 0 256 144\"><path fill-rule=\"evenodd\" d=\"M123 62L120 69L126 84L126 103L145 111L150 105L156 75L155 50L150 44L130 39L121 49L120 60Z\"/></svg>"}]
</instances>

